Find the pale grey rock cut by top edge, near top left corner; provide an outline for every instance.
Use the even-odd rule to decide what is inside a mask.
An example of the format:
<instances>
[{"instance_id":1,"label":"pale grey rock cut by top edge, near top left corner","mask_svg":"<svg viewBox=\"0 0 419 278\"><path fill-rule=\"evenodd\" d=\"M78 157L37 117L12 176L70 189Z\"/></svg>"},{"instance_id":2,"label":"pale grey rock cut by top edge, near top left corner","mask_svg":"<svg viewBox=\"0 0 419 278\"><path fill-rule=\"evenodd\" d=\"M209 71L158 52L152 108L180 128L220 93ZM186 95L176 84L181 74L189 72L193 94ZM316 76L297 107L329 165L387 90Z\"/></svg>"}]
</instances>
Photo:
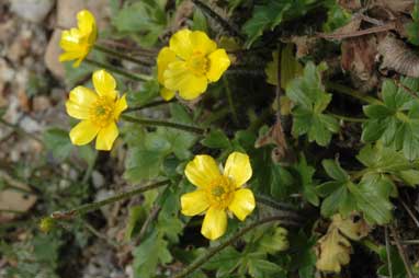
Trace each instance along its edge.
<instances>
[{"instance_id":1,"label":"pale grey rock cut by top edge, near top left corner","mask_svg":"<svg viewBox=\"0 0 419 278\"><path fill-rule=\"evenodd\" d=\"M43 22L54 7L54 0L12 0L11 3L15 14L34 23Z\"/></svg>"}]
</instances>

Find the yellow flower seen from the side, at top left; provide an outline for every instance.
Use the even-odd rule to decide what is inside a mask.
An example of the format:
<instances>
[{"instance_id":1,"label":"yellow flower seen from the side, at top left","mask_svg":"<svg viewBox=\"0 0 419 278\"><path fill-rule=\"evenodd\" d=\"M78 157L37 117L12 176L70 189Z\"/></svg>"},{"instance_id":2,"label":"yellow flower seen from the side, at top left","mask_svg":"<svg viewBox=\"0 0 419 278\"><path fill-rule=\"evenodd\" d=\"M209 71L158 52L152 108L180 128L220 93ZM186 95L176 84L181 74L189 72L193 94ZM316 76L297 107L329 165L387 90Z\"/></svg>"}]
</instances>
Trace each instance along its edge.
<instances>
[{"instance_id":1,"label":"yellow flower seen from the side, at top left","mask_svg":"<svg viewBox=\"0 0 419 278\"><path fill-rule=\"evenodd\" d=\"M76 60L73 67L79 67L98 37L97 23L91 12L88 10L78 12L77 23L78 28L63 31L59 40L59 46L64 49L64 54L59 56L59 61Z\"/></svg>"}]
</instances>

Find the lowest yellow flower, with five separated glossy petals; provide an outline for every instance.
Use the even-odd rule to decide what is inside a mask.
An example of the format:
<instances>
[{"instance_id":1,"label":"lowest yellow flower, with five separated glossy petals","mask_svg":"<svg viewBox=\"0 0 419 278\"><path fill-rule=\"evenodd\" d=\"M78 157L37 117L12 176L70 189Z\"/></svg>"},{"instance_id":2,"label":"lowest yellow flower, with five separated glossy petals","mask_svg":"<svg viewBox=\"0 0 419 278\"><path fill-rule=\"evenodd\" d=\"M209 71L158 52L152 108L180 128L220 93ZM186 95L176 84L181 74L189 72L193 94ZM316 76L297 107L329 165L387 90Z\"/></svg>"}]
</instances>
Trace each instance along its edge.
<instances>
[{"instance_id":1,"label":"lowest yellow flower, with five separated glossy petals","mask_svg":"<svg viewBox=\"0 0 419 278\"><path fill-rule=\"evenodd\" d=\"M184 173L197 189L181 196L182 213L196 216L206 211L201 229L205 238L216 240L225 233L227 209L241 221L254 209L253 193L241 188L252 174L247 154L233 152L223 174L212 157L196 155Z\"/></svg>"}]
</instances>

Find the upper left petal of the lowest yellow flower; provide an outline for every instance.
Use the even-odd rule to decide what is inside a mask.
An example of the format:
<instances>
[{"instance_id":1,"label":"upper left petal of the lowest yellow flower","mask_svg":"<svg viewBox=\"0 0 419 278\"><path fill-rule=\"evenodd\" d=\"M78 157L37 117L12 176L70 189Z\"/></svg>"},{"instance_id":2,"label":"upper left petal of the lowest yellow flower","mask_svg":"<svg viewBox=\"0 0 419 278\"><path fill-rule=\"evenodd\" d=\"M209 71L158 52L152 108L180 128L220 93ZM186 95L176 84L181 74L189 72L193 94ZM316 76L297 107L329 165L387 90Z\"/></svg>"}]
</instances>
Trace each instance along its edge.
<instances>
[{"instance_id":1,"label":"upper left petal of the lowest yellow flower","mask_svg":"<svg viewBox=\"0 0 419 278\"><path fill-rule=\"evenodd\" d=\"M217 163L212 157L206 154L195 155L188 163L184 174L197 187L206 187L220 176Z\"/></svg>"}]
</instances>

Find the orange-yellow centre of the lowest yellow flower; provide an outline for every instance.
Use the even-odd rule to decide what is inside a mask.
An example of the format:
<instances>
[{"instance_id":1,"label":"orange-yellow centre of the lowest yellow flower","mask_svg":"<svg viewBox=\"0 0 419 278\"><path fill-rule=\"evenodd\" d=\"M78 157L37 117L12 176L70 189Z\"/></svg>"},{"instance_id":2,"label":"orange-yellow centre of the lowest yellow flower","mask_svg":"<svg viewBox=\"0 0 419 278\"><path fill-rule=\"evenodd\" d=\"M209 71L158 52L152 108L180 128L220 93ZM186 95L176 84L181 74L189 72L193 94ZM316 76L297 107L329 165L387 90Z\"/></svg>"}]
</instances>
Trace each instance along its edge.
<instances>
[{"instance_id":1,"label":"orange-yellow centre of the lowest yellow flower","mask_svg":"<svg viewBox=\"0 0 419 278\"><path fill-rule=\"evenodd\" d=\"M212 206L225 209L230 205L234 192L235 187L230 179L220 176L207 187L207 198Z\"/></svg>"}]
</instances>

